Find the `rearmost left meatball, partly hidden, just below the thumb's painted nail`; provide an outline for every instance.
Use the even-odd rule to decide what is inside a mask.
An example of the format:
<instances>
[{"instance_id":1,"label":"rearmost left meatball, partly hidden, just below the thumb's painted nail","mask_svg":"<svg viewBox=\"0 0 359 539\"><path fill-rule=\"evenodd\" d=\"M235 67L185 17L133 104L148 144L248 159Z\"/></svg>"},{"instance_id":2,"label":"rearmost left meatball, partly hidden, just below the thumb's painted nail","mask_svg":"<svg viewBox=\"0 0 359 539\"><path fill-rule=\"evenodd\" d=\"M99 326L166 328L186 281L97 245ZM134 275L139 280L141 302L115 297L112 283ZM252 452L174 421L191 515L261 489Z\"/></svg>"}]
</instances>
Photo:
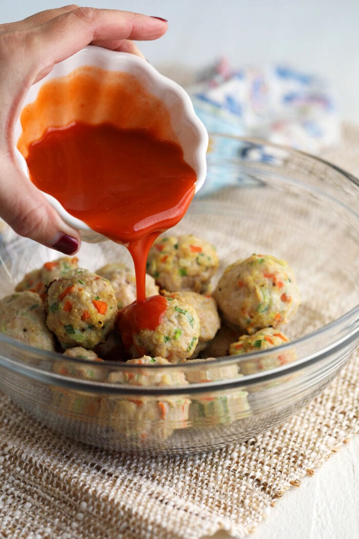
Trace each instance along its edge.
<instances>
[{"instance_id":1,"label":"rearmost left meatball, partly hidden, just below the thumb's painted nail","mask_svg":"<svg viewBox=\"0 0 359 539\"><path fill-rule=\"evenodd\" d=\"M26 273L24 279L16 285L15 291L22 292L29 290L30 292L37 292L43 297L48 285L52 281L62 277L62 275L65 275L68 271L76 269L78 262L79 259L77 257L61 257L57 260L45 262L40 268Z\"/></svg>"}]
</instances>

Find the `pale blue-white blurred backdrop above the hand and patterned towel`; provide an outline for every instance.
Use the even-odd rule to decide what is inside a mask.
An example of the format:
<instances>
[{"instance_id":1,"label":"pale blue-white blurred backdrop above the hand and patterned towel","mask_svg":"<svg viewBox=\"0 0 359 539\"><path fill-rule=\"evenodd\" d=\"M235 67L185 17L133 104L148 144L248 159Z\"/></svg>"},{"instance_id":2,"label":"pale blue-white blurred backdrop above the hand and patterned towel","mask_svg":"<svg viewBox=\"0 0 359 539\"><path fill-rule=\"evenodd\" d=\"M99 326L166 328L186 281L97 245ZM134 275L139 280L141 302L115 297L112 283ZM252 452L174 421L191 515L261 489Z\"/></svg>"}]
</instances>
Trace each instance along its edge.
<instances>
[{"instance_id":1,"label":"pale blue-white blurred backdrop above the hand and patterned towel","mask_svg":"<svg viewBox=\"0 0 359 539\"><path fill-rule=\"evenodd\" d=\"M61 3L0 0L0 22ZM90 5L168 19L166 36L141 49L174 79L176 70L203 67L221 56L234 67L283 61L328 79L342 118L359 124L359 0L93 0Z\"/></svg>"}]
</instances>

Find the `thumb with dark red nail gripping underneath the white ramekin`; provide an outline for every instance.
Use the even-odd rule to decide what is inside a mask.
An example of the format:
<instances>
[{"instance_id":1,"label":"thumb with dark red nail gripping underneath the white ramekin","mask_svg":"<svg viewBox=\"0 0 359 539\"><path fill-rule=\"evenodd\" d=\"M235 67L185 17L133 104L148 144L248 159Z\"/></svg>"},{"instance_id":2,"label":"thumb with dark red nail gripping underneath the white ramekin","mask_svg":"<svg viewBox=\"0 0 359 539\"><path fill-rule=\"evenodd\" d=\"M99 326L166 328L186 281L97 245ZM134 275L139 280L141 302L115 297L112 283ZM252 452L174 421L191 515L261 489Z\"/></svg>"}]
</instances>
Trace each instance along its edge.
<instances>
[{"instance_id":1,"label":"thumb with dark red nail gripping underneath the white ramekin","mask_svg":"<svg viewBox=\"0 0 359 539\"><path fill-rule=\"evenodd\" d=\"M61 219L45 196L9 158L0 160L0 216L20 236L64 254L75 254L79 250L79 231Z\"/></svg>"}]
</instances>

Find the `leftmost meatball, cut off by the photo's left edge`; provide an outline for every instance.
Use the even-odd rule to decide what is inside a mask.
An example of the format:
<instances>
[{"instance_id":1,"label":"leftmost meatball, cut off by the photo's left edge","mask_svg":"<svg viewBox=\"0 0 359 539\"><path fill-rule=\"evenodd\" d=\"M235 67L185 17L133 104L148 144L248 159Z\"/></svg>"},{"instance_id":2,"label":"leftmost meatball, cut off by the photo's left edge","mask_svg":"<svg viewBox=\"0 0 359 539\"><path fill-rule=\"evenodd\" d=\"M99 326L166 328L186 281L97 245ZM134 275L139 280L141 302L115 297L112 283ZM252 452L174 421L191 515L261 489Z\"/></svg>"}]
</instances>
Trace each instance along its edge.
<instances>
[{"instance_id":1,"label":"leftmost meatball, cut off by the photo's left edge","mask_svg":"<svg viewBox=\"0 0 359 539\"><path fill-rule=\"evenodd\" d=\"M17 292L0 300L1 333L34 348L54 351L54 337L45 319L43 301L35 292Z\"/></svg>"}]
</instances>

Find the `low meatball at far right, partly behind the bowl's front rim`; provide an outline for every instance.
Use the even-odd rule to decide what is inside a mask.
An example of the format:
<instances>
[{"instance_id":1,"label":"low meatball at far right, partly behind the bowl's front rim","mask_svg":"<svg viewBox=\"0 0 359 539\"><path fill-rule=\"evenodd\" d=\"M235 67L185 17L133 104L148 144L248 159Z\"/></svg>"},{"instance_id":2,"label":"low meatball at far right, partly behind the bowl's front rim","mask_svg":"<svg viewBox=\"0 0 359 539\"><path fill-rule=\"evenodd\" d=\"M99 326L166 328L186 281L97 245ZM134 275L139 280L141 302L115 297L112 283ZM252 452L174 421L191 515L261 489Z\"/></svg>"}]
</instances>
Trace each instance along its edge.
<instances>
[{"instance_id":1,"label":"low meatball at far right, partly behind the bowl's front rim","mask_svg":"<svg viewBox=\"0 0 359 539\"><path fill-rule=\"evenodd\" d=\"M243 355L259 350L269 350L281 344L289 342L289 339L278 329L264 328L252 335L242 335L237 342L229 347L230 355ZM293 350L276 351L273 354L263 355L255 360L242 361L240 370L243 374L255 374L256 372L274 369L291 363L297 358Z\"/></svg>"}]
</instances>

